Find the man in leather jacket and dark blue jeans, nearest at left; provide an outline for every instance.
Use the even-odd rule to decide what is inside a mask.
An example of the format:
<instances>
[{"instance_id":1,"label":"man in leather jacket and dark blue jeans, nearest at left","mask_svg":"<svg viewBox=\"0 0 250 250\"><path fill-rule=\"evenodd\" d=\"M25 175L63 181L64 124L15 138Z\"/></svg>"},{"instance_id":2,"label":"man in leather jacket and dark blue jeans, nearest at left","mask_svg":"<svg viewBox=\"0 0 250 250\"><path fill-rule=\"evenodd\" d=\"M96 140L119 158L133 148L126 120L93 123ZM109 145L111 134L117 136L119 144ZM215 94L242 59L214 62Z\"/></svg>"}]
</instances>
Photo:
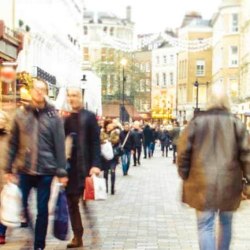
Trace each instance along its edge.
<instances>
[{"instance_id":1,"label":"man in leather jacket and dark blue jeans, nearest at left","mask_svg":"<svg viewBox=\"0 0 250 250\"><path fill-rule=\"evenodd\" d=\"M56 175L66 185L63 123L54 107L45 101L47 83L33 81L31 104L17 110L10 134L9 160L6 178L13 180L13 169L19 174L26 219L28 197L32 187L37 188L37 219L35 225L35 249L45 248L48 226L48 201L50 186Z\"/></svg>"}]
</instances>

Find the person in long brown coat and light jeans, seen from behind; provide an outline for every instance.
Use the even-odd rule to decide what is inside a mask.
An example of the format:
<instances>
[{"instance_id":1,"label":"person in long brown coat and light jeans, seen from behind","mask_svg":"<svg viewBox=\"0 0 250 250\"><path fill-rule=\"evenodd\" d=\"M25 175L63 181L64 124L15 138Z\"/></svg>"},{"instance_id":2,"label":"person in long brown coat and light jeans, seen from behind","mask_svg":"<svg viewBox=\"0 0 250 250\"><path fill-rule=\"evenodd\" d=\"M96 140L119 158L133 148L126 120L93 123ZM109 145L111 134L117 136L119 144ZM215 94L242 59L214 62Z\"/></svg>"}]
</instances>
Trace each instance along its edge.
<instances>
[{"instance_id":1,"label":"person in long brown coat and light jeans, seen from behind","mask_svg":"<svg viewBox=\"0 0 250 250\"><path fill-rule=\"evenodd\" d=\"M233 212L242 199L242 177L250 181L249 135L230 113L226 91L213 89L211 101L180 137L178 171L184 180L183 202L196 209L200 249L228 250Z\"/></svg>"}]
</instances>

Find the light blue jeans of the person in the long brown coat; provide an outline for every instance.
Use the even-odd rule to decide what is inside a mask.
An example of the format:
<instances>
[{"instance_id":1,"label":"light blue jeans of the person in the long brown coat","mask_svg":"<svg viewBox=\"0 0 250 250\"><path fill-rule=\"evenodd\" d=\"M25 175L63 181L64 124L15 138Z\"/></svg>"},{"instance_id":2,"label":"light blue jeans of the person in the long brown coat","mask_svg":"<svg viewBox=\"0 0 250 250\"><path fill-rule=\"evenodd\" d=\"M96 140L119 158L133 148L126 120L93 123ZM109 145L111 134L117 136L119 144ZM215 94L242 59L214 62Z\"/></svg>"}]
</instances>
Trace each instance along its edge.
<instances>
[{"instance_id":1,"label":"light blue jeans of the person in the long brown coat","mask_svg":"<svg viewBox=\"0 0 250 250\"><path fill-rule=\"evenodd\" d=\"M219 235L215 237L215 217L219 217ZM233 212L196 211L201 250L229 250Z\"/></svg>"}]
</instances>

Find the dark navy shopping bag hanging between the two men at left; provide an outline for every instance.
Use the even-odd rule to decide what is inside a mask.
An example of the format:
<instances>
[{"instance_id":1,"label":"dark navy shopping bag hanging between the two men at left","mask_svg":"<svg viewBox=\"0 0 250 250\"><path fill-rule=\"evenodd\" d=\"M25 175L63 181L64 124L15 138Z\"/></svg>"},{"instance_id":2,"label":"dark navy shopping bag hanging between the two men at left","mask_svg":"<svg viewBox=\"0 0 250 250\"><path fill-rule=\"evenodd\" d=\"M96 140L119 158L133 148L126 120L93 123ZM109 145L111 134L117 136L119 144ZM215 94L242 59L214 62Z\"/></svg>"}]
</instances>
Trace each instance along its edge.
<instances>
[{"instance_id":1,"label":"dark navy shopping bag hanging between the two men at left","mask_svg":"<svg viewBox=\"0 0 250 250\"><path fill-rule=\"evenodd\" d=\"M56 209L54 215L53 234L59 240L67 240L69 229L69 211L65 190L60 189L56 201Z\"/></svg>"}]
</instances>

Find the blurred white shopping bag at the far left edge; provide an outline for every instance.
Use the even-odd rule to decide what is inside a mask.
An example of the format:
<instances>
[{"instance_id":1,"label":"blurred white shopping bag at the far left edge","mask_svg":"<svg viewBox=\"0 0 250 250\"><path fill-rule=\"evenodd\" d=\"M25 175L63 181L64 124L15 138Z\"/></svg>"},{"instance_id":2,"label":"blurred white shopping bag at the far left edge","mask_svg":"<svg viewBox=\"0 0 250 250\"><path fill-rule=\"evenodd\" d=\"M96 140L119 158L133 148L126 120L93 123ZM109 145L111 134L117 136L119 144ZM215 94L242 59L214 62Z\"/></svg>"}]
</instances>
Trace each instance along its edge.
<instances>
[{"instance_id":1,"label":"blurred white shopping bag at the far left edge","mask_svg":"<svg viewBox=\"0 0 250 250\"><path fill-rule=\"evenodd\" d=\"M7 227L20 227L22 211L22 193L16 184L8 182L1 192L1 223Z\"/></svg>"}]
</instances>

